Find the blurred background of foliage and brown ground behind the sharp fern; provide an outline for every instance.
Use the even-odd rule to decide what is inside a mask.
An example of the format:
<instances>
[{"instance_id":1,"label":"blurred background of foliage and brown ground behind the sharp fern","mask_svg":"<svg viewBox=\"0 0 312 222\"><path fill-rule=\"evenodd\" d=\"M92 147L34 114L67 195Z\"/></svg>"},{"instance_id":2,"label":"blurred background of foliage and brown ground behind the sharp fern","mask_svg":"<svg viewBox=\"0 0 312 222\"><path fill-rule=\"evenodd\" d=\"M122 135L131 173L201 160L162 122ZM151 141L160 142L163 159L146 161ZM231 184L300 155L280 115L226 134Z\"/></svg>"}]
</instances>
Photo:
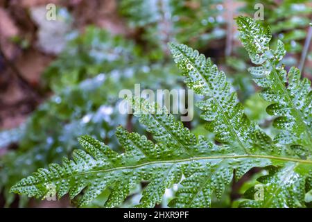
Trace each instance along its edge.
<instances>
[{"instance_id":1,"label":"blurred background of foliage and brown ground behind the sharp fern","mask_svg":"<svg viewBox=\"0 0 312 222\"><path fill-rule=\"evenodd\" d=\"M70 157L73 148L80 148L80 135L93 135L121 152L116 126L146 134L132 115L118 112L119 92L133 91L138 83L141 90L185 89L168 52L171 41L211 57L238 90L248 117L274 135L233 22L237 15L253 16L256 3L264 6L263 23L286 43L286 67L301 64L304 76L312 77L312 53L302 53L312 35L309 1L55 0L56 21L45 19L47 3L0 1L0 207L68 207L66 198L56 204L35 202L8 190L35 169ZM193 121L184 125L211 137L199 114L195 110ZM261 173L252 169L233 182L213 206L235 207ZM143 187L121 207L138 202ZM89 207L101 207L109 193ZM175 188L168 189L159 207L174 193Z\"/></svg>"}]
</instances>

